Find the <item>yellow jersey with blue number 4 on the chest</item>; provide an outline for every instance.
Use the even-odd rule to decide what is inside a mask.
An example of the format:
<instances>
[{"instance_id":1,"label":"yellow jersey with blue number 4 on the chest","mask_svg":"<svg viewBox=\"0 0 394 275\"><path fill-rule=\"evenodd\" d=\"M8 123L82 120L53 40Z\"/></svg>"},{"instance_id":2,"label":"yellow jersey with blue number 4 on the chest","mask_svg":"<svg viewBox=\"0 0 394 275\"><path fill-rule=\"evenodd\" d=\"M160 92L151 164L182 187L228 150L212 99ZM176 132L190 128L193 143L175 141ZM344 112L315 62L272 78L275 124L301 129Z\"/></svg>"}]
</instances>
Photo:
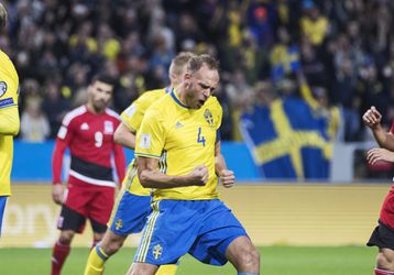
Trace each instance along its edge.
<instances>
[{"instance_id":1,"label":"yellow jersey with blue number 4 on the chest","mask_svg":"<svg viewBox=\"0 0 394 275\"><path fill-rule=\"evenodd\" d=\"M154 200L218 198L215 144L221 118L216 97L200 109L189 109L172 91L150 107L136 134L135 155L160 158L160 170L172 176L186 175L198 165L205 165L209 173L205 186L155 189Z\"/></svg>"}]
</instances>

